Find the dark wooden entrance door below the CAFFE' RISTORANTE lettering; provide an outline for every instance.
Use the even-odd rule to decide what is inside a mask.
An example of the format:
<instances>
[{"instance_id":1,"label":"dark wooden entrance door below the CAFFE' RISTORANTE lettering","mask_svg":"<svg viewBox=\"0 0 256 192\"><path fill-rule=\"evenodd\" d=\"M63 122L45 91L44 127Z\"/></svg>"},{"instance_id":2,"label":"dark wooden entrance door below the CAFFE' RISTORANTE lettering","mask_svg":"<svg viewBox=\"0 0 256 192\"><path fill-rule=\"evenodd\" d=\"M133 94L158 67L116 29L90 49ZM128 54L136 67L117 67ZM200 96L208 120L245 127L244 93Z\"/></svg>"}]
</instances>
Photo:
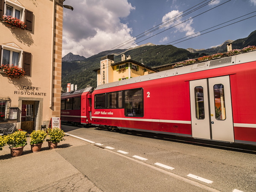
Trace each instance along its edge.
<instances>
[{"instance_id":1,"label":"dark wooden entrance door below the CAFFE' RISTORANTE lettering","mask_svg":"<svg viewBox=\"0 0 256 192\"><path fill-rule=\"evenodd\" d=\"M35 130L35 101L22 101L21 129L29 133Z\"/></svg>"}]
</instances>

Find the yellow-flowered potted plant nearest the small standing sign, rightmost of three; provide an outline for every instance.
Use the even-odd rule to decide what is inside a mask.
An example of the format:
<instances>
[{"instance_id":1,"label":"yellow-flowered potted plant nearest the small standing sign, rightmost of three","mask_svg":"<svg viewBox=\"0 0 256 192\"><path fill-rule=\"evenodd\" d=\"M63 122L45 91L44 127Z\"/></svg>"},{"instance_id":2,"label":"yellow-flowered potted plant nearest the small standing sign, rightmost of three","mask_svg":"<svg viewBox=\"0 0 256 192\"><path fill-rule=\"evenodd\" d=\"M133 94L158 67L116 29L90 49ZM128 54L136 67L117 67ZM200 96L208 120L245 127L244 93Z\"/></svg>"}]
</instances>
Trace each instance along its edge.
<instances>
[{"instance_id":1,"label":"yellow-flowered potted plant nearest the small standing sign, rightmost of three","mask_svg":"<svg viewBox=\"0 0 256 192\"><path fill-rule=\"evenodd\" d=\"M56 148L58 143L60 143L60 141L64 140L64 131L62 131L60 128L52 128L52 129L48 129L47 130L47 139L46 141L48 141L48 146L50 149L52 148Z\"/></svg>"}]
</instances>

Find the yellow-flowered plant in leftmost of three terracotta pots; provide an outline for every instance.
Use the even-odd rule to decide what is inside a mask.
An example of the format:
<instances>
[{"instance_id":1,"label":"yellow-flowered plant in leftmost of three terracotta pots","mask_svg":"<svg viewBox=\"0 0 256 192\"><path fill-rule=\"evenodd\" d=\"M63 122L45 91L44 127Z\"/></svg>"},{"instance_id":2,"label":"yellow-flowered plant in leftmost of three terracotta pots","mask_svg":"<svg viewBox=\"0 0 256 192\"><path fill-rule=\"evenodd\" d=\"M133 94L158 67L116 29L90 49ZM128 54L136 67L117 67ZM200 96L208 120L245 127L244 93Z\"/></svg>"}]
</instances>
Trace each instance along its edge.
<instances>
[{"instance_id":1,"label":"yellow-flowered plant in leftmost of three terracotta pots","mask_svg":"<svg viewBox=\"0 0 256 192\"><path fill-rule=\"evenodd\" d=\"M15 131L13 134L4 136L6 144L11 149L12 157L22 155L23 148L27 144L26 134L26 131Z\"/></svg>"}]
</instances>

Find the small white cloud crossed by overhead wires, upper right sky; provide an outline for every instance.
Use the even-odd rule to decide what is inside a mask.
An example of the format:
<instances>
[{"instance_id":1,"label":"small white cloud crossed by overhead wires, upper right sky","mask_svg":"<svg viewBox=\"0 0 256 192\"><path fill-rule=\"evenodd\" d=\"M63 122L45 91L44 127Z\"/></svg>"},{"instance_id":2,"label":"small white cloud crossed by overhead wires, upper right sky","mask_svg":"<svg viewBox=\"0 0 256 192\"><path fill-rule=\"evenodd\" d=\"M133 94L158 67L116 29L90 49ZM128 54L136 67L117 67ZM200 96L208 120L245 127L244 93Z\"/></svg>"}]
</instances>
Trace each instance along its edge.
<instances>
[{"instance_id":1,"label":"small white cloud crossed by overhead wires, upper right sky","mask_svg":"<svg viewBox=\"0 0 256 192\"><path fill-rule=\"evenodd\" d=\"M164 15L162 18L162 22L165 22L167 20L168 20L167 23L170 22L169 24L164 26L164 28L167 29L169 27L174 27L175 29L177 29L176 32L186 32L186 36L193 35L195 33L195 29L192 27L193 19L190 19L184 22L185 19L178 18L181 15L182 15L182 12L179 12L178 10L173 10L167 13L166 15ZM200 33L198 33L197 35L199 34Z\"/></svg>"}]
</instances>

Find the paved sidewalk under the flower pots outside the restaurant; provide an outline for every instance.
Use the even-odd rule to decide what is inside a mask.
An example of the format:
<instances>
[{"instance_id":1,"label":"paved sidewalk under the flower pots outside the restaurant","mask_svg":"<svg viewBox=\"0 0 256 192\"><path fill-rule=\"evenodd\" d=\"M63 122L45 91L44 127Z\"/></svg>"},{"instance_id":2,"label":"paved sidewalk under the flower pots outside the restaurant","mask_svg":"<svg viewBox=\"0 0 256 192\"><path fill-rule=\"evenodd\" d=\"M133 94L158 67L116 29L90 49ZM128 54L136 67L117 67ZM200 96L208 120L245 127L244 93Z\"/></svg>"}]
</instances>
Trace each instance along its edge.
<instances>
[{"instance_id":1,"label":"paved sidewalk under the flower pots outside the restaurant","mask_svg":"<svg viewBox=\"0 0 256 192\"><path fill-rule=\"evenodd\" d=\"M28 138L28 145L19 157L12 157L5 146L0 151L0 191L101 191L58 153L88 143L70 136L64 139L56 149L49 149L44 142L41 151L32 153Z\"/></svg>"}]
</instances>

